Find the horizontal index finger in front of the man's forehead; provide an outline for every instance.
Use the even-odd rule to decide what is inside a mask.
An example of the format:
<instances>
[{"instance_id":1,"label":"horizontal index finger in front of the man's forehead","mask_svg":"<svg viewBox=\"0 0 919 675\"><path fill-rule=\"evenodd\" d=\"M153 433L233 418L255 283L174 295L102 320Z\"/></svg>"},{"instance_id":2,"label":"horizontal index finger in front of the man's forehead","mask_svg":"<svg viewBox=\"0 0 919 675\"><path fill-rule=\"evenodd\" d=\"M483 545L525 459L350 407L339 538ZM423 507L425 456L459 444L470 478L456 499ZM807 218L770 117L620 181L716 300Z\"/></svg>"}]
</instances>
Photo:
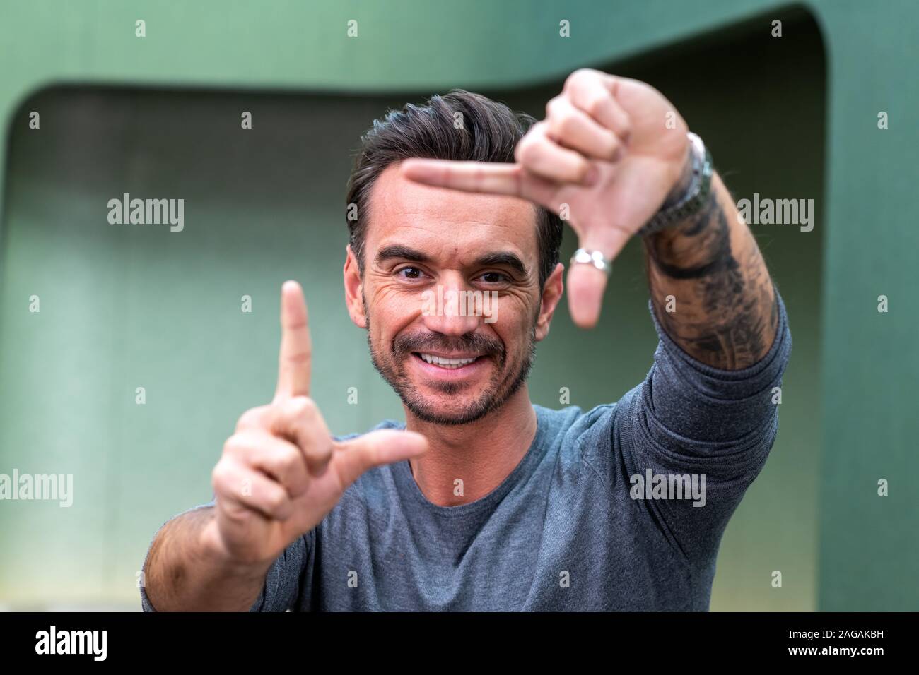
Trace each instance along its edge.
<instances>
[{"instance_id":1,"label":"horizontal index finger in front of the man's forehead","mask_svg":"<svg viewBox=\"0 0 919 675\"><path fill-rule=\"evenodd\" d=\"M412 158L403 161L402 172L409 180L428 186L524 197L520 164Z\"/></svg>"}]
</instances>

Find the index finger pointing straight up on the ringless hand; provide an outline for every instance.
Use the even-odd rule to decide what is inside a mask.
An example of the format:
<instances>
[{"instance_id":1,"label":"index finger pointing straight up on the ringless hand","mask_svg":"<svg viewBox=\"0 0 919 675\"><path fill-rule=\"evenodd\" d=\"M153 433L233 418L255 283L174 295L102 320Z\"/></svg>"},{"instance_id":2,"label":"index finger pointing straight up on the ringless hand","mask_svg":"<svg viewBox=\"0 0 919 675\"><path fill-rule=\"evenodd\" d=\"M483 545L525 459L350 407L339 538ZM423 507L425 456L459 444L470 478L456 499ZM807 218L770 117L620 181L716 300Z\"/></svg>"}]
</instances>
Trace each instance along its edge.
<instances>
[{"instance_id":1,"label":"index finger pointing straight up on the ringless hand","mask_svg":"<svg viewBox=\"0 0 919 675\"><path fill-rule=\"evenodd\" d=\"M281 349L275 400L310 395L312 341L303 289L296 281L281 287Z\"/></svg>"}]
</instances>

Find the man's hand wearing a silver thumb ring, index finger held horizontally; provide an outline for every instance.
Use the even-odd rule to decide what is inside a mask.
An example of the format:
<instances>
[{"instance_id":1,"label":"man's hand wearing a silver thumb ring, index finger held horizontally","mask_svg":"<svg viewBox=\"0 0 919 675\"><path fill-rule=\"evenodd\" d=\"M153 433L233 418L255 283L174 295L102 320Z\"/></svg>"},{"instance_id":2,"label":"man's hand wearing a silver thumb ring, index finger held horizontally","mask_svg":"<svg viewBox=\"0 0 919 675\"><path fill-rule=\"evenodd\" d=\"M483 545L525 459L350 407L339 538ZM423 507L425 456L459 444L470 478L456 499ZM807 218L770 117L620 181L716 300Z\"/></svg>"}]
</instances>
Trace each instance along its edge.
<instances>
[{"instance_id":1,"label":"man's hand wearing a silver thumb ring, index finger held horizontally","mask_svg":"<svg viewBox=\"0 0 919 675\"><path fill-rule=\"evenodd\" d=\"M568 77L546 106L546 118L517 144L516 163L412 159L402 171L431 186L523 197L562 215L567 210L580 246L612 261L683 174L686 131L652 86L585 69ZM606 284L606 275L590 265L569 270L576 324L596 324Z\"/></svg>"}]
</instances>

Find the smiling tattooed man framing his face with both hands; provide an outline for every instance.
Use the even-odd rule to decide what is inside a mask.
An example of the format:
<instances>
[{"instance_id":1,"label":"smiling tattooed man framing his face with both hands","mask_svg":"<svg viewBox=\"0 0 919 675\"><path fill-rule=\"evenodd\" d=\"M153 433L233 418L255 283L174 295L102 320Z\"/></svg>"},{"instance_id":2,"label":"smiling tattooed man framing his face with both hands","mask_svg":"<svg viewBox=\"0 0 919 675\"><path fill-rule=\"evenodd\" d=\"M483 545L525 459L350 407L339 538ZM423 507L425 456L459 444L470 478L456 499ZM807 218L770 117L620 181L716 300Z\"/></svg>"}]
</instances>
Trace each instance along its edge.
<instances>
[{"instance_id":1,"label":"smiling tattooed man framing his face with both hands","mask_svg":"<svg viewBox=\"0 0 919 675\"><path fill-rule=\"evenodd\" d=\"M776 437L785 309L664 96L580 70L546 111L455 91L369 130L346 303L406 424L330 435L286 283L275 399L240 418L214 501L156 535L145 610L708 609L721 534ZM526 384L562 297L559 214L581 246L573 320L596 323L637 235L660 336L644 382L587 412L534 406Z\"/></svg>"}]
</instances>

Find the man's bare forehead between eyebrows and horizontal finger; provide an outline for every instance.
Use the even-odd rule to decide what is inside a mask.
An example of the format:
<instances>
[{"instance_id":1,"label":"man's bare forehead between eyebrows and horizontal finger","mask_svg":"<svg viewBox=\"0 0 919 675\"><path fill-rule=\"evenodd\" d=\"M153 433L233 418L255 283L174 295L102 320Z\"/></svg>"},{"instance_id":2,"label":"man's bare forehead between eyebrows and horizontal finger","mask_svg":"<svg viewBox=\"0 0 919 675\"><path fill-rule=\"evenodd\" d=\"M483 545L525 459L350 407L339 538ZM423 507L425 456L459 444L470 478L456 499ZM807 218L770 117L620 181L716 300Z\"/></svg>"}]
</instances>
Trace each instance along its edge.
<instances>
[{"instance_id":1,"label":"man's bare forehead between eyebrows and horizontal finger","mask_svg":"<svg viewBox=\"0 0 919 675\"><path fill-rule=\"evenodd\" d=\"M369 252L392 243L441 253L514 251L537 255L536 208L526 199L424 186L388 166L370 190ZM370 253L372 255L372 253Z\"/></svg>"}]
</instances>

